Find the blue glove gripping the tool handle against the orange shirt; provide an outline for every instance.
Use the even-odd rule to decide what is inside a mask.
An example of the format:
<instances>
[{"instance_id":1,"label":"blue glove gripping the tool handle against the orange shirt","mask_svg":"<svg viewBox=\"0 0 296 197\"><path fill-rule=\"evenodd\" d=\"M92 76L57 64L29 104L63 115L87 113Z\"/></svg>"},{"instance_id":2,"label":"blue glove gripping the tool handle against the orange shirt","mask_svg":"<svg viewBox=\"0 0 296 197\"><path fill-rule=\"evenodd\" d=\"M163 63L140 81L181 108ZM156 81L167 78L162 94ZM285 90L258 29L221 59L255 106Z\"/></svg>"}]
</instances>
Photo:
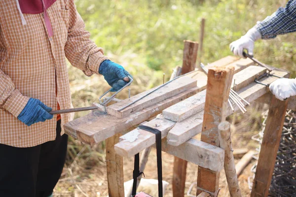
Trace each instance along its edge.
<instances>
[{"instance_id":1,"label":"blue glove gripping the tool handle against the orange shirt","mask_svg":"<svg viewBox=\"0 0 296 197\"><path fill-rule=\"evenodd\" d=\"M44 122L53 118L50 112L52 109L46 106L38 99L30 98L23 111L18 115L17 119L31 126L34 123Z\"/></svg>"}]
</instances>

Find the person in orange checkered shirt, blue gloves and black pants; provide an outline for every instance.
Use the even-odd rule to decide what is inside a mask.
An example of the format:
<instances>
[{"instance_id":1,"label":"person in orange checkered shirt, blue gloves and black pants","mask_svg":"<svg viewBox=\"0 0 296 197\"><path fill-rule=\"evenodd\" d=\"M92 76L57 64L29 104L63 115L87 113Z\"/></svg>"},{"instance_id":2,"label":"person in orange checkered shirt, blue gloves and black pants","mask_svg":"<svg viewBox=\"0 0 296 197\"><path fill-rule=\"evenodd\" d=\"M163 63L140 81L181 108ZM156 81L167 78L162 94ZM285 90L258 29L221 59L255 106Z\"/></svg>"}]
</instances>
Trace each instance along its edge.
<instances>
[{"instance_id":1,"label":"person in orange checkered shirt, blue gloves and black pants","mask_svg":"<svg viewBox=\"0 0 296 197\"><path fill-rule=\"evenodd\" d=\"M129 81L89 37L74 0L0 0L0 197L52 197L71 114L49 112L72 107L66 58L112 92Z\"/></svg>"}]
</instances>

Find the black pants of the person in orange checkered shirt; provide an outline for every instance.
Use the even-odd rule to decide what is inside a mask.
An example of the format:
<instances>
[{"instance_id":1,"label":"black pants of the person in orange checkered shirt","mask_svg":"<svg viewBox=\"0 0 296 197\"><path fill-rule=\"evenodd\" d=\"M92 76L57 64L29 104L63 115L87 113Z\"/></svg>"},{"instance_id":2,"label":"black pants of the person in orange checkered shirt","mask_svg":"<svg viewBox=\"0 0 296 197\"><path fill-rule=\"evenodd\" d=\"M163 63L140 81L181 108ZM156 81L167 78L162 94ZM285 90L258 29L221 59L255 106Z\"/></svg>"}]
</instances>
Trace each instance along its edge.
<instances>
[{"instance_id":1,"label":"black pants of the person in orange checkered shirt","mask_svg":"<svg viewBox=\"0 0 296 197\"><path fill-rule=\"evenodd\" d=\"M68 135L57 122L54 141L16 148L0 144L0 197L48 197L58 182L67 153Z\"/></svg>"}]
</instances>

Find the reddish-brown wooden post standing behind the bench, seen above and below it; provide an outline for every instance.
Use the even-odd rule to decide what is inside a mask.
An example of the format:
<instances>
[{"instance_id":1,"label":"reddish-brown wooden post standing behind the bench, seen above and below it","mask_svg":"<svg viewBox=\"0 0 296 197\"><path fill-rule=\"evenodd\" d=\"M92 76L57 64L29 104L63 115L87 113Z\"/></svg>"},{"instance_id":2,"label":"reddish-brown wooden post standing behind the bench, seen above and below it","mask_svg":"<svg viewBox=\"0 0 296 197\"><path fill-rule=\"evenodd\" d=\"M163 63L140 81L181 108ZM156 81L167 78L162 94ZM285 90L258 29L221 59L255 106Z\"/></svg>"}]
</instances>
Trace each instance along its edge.
<instances>
[{"instance_id":1,"label":"reddish-brown wooden post standing behind the bench, seen above and below it","mask_svg":"<svg viewBox=\"0 0 296 197\"><path fill-rule=\"evenodd\" d=\"M185 40L181 74L195 69L198 43ZM175 76L177 77L177 76ZM184 197L187 161L175 157L173 168L173 197Z\"/></svg>"}]
</instances>

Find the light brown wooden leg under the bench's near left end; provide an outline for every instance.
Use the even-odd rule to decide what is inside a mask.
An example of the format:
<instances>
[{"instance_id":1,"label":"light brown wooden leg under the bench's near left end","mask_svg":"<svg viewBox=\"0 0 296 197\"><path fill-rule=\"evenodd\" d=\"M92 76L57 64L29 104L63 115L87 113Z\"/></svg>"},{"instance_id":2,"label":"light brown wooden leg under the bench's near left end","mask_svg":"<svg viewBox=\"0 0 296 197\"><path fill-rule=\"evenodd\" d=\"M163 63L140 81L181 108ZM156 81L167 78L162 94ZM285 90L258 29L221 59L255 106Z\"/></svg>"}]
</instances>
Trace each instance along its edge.
<instances>
[{"instance_id":1,"label":"light brown wooden leg under the bench's near left end","mask_svg":"<svg viewBox=\"0 0 296 197\"><path fill-rule=\"evenodd\" d=\"M110 102L111 105L113 102ZM114 145L118 143L120 133L106 139L106 163L109 197L124 197L123 157L117 155Z\"/></svg>"}]
</instances>

